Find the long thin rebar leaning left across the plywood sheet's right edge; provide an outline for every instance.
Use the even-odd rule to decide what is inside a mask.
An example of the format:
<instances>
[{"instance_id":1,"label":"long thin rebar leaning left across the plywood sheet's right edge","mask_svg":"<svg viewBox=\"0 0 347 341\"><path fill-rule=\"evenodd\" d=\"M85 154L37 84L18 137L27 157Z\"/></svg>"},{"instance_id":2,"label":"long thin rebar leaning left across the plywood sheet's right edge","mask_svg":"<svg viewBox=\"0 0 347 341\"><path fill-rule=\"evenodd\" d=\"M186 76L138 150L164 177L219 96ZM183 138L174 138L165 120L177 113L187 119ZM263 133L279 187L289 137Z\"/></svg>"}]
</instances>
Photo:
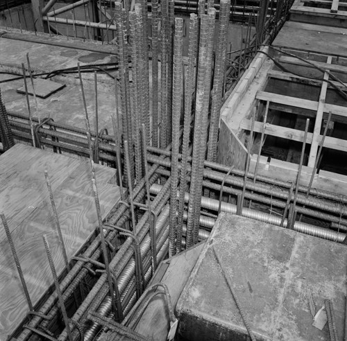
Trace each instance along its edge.
<instances>
[{"instance_id":1,"label":"long thin rebar leaning left across the plywood sheet's right edge","mask_svg":"<svg viewBox=\"0 0 347 341\"><path fill-rule=\"evenodd\" d=\"M111 271L110 271L110 260L108 259L108 250L106 249L105 235L103 234L103 220L101 218L101 207L100 207L99 194L98 194L98 189L96 187L95 179L92 179L92 186L93 186L93 192L94 192L96 214L97 214L97 218L98 218L101 250L103 252L103 262L105 263L105 270L106 270L106 274L107 274L107 278L108 278L108 288L110 290L112 310L113 310L113 313L115 315L117 315L117 306L116 306L116 302L115 302L113 282L112 282Z\"/></svg>"}]
</instances>

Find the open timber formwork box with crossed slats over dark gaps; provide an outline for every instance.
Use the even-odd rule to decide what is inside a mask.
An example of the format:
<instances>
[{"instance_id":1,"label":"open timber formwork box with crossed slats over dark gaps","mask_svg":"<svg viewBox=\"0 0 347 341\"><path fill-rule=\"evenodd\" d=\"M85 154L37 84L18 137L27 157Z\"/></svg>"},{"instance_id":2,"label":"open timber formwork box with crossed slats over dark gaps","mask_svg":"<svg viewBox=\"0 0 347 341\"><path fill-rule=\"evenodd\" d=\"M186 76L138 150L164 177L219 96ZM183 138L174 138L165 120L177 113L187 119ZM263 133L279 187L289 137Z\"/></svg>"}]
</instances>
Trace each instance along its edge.
<instances>
[{"instance_id":1,"label":"open timber formwork box with crossed slats over dark gaps","mask_svg":"<svg viewBox=\"0 0 347 341\"><path fill-rule=\"evenodd\" d=\"M320 55L319 60L323 60L324 55ZM234 149L244 148L244 154L247 153L248 146L246 145L247 139L244 139L245 132L249 135L251 131L252 118L251 113L258 103L264 103L264 107L269 107L270 110L279 110L287 112L288 114L303 115L315 119L314 130L307 134L307 144L310 145L310 156L307 166L303 166L301 173L301 184L308 185L310 177L314 171L314 164L316 162L316 155L319 150L319 146L322 140L321 128L323 120L326 120L329 112L332 112L332 121L347 124L347 106L341 106L337 104L325 103L328 89L332 89L332 85L336 87L344 87L346 83L340 83L330 80L329 71L333 71L335 75L337 73L347 74L347 67L338 64L338 58L332 55L325 55L325 62L315 62L310 60L312 64L307 64L303 60L298 58L281 56L278 61L286 63L287 65L295 65L298 67L307 67L308 70L314 66L325 69L323 79L312 80L305 76L297 76L294 73L285 71L278 71L274 69L274 62L269 58L262 58L260 67L257 69L250 69L244 75L244 82L239 82L239 87L233 91L230 98L223 105L223 111L221 114L223 132L226 134L226 127L229 128L229 135L233 138L229 138L229 146L222 146L222 152L219 153L227 155L235 155ZM258 61L259 62L259 61ZM332 64L333 63L333 64ZM342 62L344 64L344 62ZM271 87L266 87L269 84L269 80L286 80L293 82L294 84L306 84L319 87L319 98L317 100L308 100L299 98L296 93L296 97L290 94L276 94L271 92ZM248 82L248 80L251 80ZM331 83L325 80L331 81ZM266 89L266 90L265 90ZM297 91L298 92L298 91ZM269 105L266 105L268 103ZM260 119L257 119L254 123L254 132L261 133L264 130L265 135L271 135L273 137L280 137L282 139L289 139L291 141L303 142L304 131L294 128L287 128L277 125L275 123L263 123ZM222 136L221 141L227 141L226 137ZM241 144L242 146L239 146ZM338 139L336 137L326 136L323 146L342 152L347 152L347 139ZM257 153L250 155L250 168L249 171L253 173L255 171L255 164L257 163ZM219 159L224 164L228 157L224 156L225 160ZM235 165L235 162L232 163ZM244 169L244 166L238 166L237 168ZM258 175L265 175L269 177L278 178L285 181L294 181L298 173L298 164L293 164L288 161L281 161L278 159L268 160L267 157L260 157L259 168L257 169ZM327 171L320 171L314 177L313 186L323 189L325 191L333 191L341 195L346 194L347 190L347 176L339 175L337 173L331 173Z\"/></svg>"}]
</instances>

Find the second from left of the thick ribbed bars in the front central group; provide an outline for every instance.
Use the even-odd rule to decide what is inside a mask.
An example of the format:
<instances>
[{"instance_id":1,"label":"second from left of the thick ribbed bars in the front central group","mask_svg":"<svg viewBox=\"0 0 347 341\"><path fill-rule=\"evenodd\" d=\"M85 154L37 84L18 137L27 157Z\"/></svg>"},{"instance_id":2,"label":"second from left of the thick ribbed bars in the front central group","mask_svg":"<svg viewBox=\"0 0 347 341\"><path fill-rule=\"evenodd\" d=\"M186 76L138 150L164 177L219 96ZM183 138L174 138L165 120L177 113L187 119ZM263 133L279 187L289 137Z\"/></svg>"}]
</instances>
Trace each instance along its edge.
<instances>
[{"instance_id":1,"label":"second from left of the thick ribbed bars in the front central group","mask_svg":"<svg viewBox=\"0 0 347 341\"><path fill-rule=\"evenodd\" d=\"M187 191L187 166L189 156L189 139L190 139L190 123L192 117L192 100L194 88L194 69L196 67L196 44L198 41L198 17L194 13L189 19L189 47L188 47L188 71L187 81L185 82L185 115L183 123L183 141L182 141L182 161L180 171L180 195L178 202L178 222L176 236L176 250L181 250L182 226L183 226L183 210L185 208L185 191Z\"/></svg>"}]
</instances>

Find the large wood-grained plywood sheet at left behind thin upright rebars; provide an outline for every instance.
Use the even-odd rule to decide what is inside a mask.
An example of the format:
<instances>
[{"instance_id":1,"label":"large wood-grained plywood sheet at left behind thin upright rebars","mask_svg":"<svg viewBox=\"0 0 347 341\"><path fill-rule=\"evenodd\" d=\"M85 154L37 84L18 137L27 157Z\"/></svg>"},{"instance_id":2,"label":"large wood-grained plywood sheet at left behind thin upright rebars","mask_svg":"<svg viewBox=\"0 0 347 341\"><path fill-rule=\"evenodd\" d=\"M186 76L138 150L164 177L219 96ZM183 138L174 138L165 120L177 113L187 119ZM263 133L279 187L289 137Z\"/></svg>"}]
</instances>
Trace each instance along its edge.
<instances>
[{"instance_id":1,"label":"large wood-grained plywood sheet at left behind thin upright rebars","mask_svg":"<svg viewBox=\"0 0 347 341\"><path fill-rule=\"evenodd\" d=\"M69 259L94 236L94 229L97 226L96 208L89 161L24 145L16 145L15 150L17 150L16 161L9 160L8 173L0 173L0 181L6 176L11 184L10 190L3 189L0 192L0 204L7 201L12 203L9 207L14 214L17 206L22 209L21 218L15 216L12 220L14 223L10 223L10 229L28 292L35 305L53 283L42 243L43 234L47 234L49 239L58 274L61 274L65 268L46 190L44 169L49 168L53 196ZM35 155L35 162L23 164L20 155L24 152L30 154L31 151ZM12 150L8 152L0 157L0 169L6 163L3 161L7 161L9 156L16 156ZM26 159L30 160L30 157ZM24 160L26 159L24 157ZM16 176L11 177L11 171ZM115 170L95 165L95 172L101 214L105 218L119 200L119 188L111 183ZM17 188L12 184L16 180ZM2 227L0 231L2 233ZM6 237L0 240L0 276L0 340L6 340L7 335L17 329L28 313L24 292Z\"/></svg>"}]
</instances>

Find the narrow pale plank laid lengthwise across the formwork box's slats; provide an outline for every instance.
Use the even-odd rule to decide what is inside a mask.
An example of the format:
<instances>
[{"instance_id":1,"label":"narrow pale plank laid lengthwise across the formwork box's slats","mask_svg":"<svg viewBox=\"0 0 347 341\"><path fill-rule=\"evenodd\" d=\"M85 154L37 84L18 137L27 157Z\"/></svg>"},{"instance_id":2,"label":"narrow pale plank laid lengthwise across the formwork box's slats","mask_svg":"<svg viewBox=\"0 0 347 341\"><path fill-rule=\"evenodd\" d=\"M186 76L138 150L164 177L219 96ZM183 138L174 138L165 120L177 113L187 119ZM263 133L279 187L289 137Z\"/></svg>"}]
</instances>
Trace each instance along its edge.
<instances>
[{"instance_id":1,"label":"narrow pale plank laid lengthwise across the formwork box's slats","mask_svg":"<svg viewBox=\"0 0 347 341\"><path fill-rule=\"evenodd\" d=\"M331 64L331 61L332 61L332 57L330 55L328 57L327 64ZM324 80L329 79L329 74L327 72L324 73L323 79ZM308 157L308 166L312 168L314 167L314 164L316 162L317 150L319 146L319 140L321 137L321 126L322 126L322 120L323 120L323 110L324 110L327 89L328 89L328 83L323 82L321 87L321 94L319 94L319 104L318 104L318 109L316 113L316 120L314 121L314 130L313 130L310 155Z\"/></svg>"}]
</instances>

